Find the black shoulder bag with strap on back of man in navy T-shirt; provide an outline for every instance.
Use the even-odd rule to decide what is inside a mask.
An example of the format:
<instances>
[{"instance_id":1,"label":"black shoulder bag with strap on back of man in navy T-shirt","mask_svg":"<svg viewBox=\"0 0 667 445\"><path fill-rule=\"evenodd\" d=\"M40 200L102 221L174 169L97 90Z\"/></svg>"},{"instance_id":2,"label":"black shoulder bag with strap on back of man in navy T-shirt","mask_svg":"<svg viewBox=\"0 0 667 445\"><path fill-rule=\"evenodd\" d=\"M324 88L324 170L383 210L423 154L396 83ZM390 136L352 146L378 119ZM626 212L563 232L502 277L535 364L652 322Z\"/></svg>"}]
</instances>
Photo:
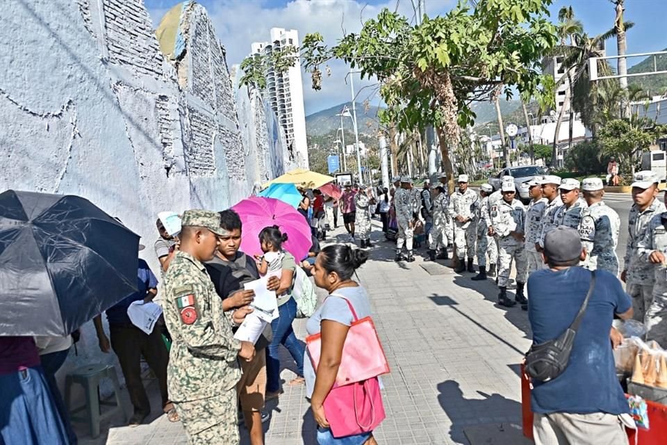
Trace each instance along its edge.
<instances>
[{"instance_id":1,"label":"black shoulder bag with strap on back of man in navy T-shirt","mask_svg":"<svg viewBox=\"0 0 667 445\"><path fill-rule=\"evenodd\" d=\"M591 272L591 284L588 286L588 293L579 308L579 313L575 321L563 332L557 339L545 341L538 345L534 344L526 353L526 373L535 380L548 382L552 378L557 378L568 367L570 353L575 343L575 337L579 325L584 318L584 312L588 306L588 299L593 295L595 287L595 270Z\"/></svg>"}]
</instances>

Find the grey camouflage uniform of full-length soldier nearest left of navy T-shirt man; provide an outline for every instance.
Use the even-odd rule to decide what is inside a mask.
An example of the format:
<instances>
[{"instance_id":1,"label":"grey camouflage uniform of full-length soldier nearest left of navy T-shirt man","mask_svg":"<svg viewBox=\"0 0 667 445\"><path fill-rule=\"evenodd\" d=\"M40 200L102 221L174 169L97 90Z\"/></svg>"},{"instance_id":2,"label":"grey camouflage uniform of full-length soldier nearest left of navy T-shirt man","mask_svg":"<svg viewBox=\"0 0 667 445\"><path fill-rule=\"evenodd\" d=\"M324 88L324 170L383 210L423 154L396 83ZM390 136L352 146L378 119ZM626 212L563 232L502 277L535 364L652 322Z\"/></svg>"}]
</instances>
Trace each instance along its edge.
<instances>
[{"instance_id":1,"label":"grey camouflage uniform of full-length soldier nearest left of navy T-shirt man","mask_svg":"<svg viewBox=\"0 0 667 445\"><path fill-rule=\"evenodd\" d=\"M516 262L516 282L526 282L527 262L524 243L510 235L510 232L523 233L524 220L525 208L519 200L513 200L511 203L500 200L491 207L491 223L499 245L498 287L507 287L512 259Z\"/></svg>"}]
</instances>

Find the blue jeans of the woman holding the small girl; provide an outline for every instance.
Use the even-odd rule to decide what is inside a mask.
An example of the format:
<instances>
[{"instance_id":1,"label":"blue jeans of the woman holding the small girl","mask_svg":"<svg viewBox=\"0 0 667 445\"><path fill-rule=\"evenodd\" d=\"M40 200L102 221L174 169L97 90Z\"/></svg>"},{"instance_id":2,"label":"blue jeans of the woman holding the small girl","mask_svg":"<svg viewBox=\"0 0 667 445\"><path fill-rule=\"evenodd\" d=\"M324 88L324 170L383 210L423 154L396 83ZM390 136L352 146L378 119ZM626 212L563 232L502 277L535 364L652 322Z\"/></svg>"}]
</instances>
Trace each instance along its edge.
<instances>
[{"instance_id":1,"label":"blue jeans of the woman holding the small girl","mask_svg":"<svg viewBox=\"0 0 667 445\"><path fill-rule=\"evenodd\" d=\"M297 316L297 302L290 298L284 305L278 307L278 318L271 322L273 340L266 348L266 391L276 392L280 389L280 354L279 347L283 345L292 355L297 364L297 374L304 375L304 343L297 339L292 329L292 322Z\"/></svg>"}]
</instances>

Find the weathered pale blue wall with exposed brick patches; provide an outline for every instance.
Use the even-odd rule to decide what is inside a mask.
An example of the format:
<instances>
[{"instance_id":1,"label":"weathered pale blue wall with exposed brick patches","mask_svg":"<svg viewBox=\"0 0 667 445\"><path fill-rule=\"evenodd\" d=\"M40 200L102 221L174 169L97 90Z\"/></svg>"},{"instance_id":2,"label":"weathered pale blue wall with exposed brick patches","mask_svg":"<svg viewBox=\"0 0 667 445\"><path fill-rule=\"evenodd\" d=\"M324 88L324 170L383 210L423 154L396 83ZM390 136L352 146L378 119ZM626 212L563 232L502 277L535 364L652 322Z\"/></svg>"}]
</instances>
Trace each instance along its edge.
<instances>
[{"instance_id":1,"label":"weathered pale blue wall with exposed brick patches","mask_svg":"<svg viewBox=\"0 0 667 445\"><path fill-rule=\"evenodd\" d=\"M206 10L183 11L181 65L160 53L141 0L8 0L0 15L0 190L88 198L142 236L158 276L158 211L225 209L289 166L261 104L238 121ZM115 359L89 323L63 371L92 361Z\"/></svg>"}]
</instances>

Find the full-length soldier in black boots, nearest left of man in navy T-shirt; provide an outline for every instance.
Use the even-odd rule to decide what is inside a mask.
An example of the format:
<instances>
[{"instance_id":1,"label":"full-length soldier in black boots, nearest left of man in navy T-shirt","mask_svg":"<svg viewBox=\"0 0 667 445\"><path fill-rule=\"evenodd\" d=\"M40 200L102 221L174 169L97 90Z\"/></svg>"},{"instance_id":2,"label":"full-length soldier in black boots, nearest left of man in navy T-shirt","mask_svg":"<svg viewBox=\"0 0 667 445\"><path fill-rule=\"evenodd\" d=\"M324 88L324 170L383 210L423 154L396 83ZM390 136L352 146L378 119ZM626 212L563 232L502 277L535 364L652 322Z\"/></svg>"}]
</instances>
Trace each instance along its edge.
<instances>
[{"instance_id":1,"label":"full-length soldier in black boots, nearest left of man in navy T-shirt","mask_svg":"<svg viewBox=\"0 0 667 445\"><path fill-rule=\"evenodd\" d=\"M500 247L498 251L498 301L501 305L512 307L517 302L526 305L523 289L527 278L526 250L523 243L523 222L525 209L519 200L515 200L514 183L503 182L500 186L502 200L491 208L491 222ZM516 301L507 297L507 284L512 269L512 260L516 263Z\"/></svg>"}]
</instances>

